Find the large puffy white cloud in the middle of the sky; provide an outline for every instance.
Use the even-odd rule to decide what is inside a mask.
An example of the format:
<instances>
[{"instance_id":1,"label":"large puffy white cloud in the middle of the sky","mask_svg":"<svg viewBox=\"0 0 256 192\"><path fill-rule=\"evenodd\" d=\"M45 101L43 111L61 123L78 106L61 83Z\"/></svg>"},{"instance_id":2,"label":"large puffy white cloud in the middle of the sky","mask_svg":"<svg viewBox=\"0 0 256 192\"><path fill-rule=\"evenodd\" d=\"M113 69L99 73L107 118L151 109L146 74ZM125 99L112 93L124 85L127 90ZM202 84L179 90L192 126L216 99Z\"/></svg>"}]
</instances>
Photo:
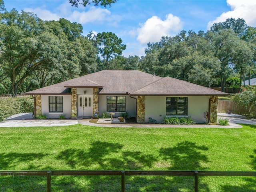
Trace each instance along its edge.
<instances>
[{"instance_id":1,"label":"large puffy white cloud in the middle of the sky","mask_svg":"<svg viewBox=\"0 0 256 192\"><path fill-rule=\"evenodd\" d=\"M157 42L162 36L171 36L182 30L180 18L172 14L166 15L166 20L161 20L158 16L152 16L140 26L137 29L137 40L142 44Z\"/></svg>"}]
</instances>

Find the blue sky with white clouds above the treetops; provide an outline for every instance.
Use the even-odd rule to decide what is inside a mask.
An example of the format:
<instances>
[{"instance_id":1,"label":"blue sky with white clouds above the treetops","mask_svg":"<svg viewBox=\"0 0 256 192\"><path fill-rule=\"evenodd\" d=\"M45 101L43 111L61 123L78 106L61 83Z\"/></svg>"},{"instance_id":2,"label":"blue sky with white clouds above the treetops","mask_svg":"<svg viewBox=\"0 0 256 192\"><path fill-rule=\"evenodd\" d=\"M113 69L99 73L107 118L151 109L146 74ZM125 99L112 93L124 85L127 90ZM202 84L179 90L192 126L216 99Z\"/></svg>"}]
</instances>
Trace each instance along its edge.
<instances>
[{"instance_id":1,"label":"blue sky with white clouds above the treetops","mask_svg":"<svg viewBox=\"0 0 256 192\"><path fill-rule=\"evenodd\" d=\"M113 32L126 44L123 55L144 55L148 42L175 36L181 30L208 30L212 23L243 18L256 27L256 0L119 0L109 8L68 0L4 0L12 8L33 12L42 20L66 18L83 26L83 34Z\"/></svg>"}]
</instances>

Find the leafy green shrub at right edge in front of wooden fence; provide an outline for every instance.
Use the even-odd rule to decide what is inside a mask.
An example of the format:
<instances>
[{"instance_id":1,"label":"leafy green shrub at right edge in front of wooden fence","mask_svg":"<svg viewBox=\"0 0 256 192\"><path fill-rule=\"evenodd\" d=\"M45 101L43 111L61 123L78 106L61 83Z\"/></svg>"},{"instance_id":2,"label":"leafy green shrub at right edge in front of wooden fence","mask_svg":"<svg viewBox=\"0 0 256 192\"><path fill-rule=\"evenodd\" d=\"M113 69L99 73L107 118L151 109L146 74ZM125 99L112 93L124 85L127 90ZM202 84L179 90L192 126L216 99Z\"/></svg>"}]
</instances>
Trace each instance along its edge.
<instances>
[{"instance_id":1,"label":"leafy green shrub at right edge in front of wooden fence","mask_svg":"<svg viewBox=\"0 0 256 192\"><path fill-rule=\"evenodd\" d=\"M256 86L246 86L240 93L235 94L232 100L240 106L252 111L256 111Z\"/></svg>"}]
</instances>

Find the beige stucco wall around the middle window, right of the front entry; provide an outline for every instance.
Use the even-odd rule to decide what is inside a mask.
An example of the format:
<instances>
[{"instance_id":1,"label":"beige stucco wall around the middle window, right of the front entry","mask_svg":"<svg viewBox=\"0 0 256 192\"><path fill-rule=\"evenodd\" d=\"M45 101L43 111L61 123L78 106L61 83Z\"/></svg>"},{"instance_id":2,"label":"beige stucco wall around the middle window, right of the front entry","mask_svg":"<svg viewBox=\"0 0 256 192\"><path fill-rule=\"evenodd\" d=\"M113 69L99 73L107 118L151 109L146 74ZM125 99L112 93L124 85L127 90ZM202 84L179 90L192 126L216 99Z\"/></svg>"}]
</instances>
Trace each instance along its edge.
<instances>
[{"instance_id":1,"label":"beige stucco wall around the middle window, right of the front entry","mask_svg":"<svg viewBox=\"0 0 256 192\"><path fill-rule=\"evenodd\" d=\"M136 117L136 99L130 98L129 95L99 95L99 115L107 110L107 96L125 96L125 109L129 112L130 117ZM122 112L115 112L118 117Z\"/></svg>"}]
</instances>

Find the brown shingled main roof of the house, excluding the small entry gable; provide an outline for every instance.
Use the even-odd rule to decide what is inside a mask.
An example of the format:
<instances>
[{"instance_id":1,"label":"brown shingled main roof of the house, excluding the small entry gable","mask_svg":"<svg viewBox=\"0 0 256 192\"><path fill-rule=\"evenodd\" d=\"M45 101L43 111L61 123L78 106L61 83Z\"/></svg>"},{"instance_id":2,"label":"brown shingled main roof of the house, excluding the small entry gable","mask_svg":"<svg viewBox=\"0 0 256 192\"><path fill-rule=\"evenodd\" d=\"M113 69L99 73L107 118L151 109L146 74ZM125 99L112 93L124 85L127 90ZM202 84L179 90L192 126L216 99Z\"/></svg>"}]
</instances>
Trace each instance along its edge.
<instances>
[{"instance_id":1,"label":"brown shingled main roof of the house, excluding the small entry gable","mask_svg":"<svg viewBox=\"0 0 256 192\"><path fill-rule=\"evenodd\" d=\"M159 77L138 70L102 70L26 94L71 94L72 87L102 88L99 94L130 95L226 95L224 92L170 77Z\"/></svg>"}]
</instances>

